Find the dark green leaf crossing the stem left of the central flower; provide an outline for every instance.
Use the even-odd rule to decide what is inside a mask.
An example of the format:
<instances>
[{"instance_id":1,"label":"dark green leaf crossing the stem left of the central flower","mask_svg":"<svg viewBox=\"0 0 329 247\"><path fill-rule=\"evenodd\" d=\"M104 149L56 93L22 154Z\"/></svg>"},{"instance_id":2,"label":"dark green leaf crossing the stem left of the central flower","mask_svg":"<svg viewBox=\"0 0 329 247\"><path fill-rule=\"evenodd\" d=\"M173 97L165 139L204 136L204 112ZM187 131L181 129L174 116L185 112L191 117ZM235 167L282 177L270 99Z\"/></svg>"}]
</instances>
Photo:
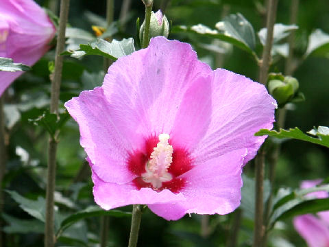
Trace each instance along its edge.
<instances>
[{"instance_id":1,"label":"dark green leaf crossing the stem left of the central flower","mask_svg":"<svg viewBox=\"0 0 329 247\"><path fill-rule=\"evenodd\" d=\"M70 115L66 110L64 113L60 113L59 115L56 115L55 113L49 113L49 110L47 110L37 119L29 119L29 121L33 122L35 126L42 126L45 128L51 137L55 139L56 132L64 126L69 118Z\"/></svg>"}]
</instances>

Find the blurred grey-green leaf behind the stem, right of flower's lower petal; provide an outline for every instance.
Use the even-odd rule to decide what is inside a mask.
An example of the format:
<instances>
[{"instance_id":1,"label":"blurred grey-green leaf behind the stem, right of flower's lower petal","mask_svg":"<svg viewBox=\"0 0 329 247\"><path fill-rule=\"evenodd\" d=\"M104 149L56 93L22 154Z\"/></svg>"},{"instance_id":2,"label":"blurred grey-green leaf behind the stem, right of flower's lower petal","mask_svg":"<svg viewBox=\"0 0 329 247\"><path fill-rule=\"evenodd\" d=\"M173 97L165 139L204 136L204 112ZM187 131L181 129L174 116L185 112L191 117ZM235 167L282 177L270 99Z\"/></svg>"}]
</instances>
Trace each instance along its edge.
<instances>
[{"instance_id":1,"label":"blurred grey-green leaf behind the stem, right of flower's lower petal","mask_svg":"<svg viewBox=\"0 0 329 247\"><path fill-rule=\"evenodd\" d=\"M243 215L250 220L254 220L255 215L255 180L254 178L248 178L243 174L243 187L241 188L241 208L243 209ZM269 198L270 193L269 180L264 181L264 204Z\"/></svg>"}]
</instances>

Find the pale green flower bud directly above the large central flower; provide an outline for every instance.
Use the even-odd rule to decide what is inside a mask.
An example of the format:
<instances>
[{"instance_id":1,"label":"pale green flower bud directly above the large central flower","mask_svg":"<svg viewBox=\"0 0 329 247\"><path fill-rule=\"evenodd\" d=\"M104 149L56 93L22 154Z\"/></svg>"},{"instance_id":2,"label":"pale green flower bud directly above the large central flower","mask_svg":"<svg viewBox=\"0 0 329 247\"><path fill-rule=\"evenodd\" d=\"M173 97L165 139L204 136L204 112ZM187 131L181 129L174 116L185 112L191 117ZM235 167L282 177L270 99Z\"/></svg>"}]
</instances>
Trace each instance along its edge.
<instances>
[{"instance_id":1,"label":"pale green flower bud directly above the large central flower","mask_svg":"<svg viewBox=\"0 0 329 247\"><path fill-rule=\"evenodd\" d=\"M145 20L141 25L139 30L139 39L143 43L143 34L145 28ZM161 10L158 10L156 13L151 12L151 21L149 23L149 39L156 36L164 36L168 38L169 36L169 22L165 15L162 15Z\"/></svg>"}]
</instances>

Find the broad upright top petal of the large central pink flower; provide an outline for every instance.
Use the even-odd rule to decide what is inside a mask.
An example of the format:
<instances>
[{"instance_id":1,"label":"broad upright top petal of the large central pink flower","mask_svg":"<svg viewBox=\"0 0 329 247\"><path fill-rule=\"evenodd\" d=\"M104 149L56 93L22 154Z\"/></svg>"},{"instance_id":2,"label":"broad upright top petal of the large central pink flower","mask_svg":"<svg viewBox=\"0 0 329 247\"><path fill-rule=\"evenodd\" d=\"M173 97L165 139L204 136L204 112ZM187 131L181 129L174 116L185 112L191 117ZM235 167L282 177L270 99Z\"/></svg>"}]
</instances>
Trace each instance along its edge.
<instances>
[{"instance_id":1,"label":"broad upright top petal of the large central pink flower","mask_svg":"<svg viewBox=\"0 0 329 247\"><path fill-rule=\"evenodd\" d=\"M201 107L188 107L187 104L192 102L193 96L199 100L210 96L210 84L205 85L204 89L201 86L202 78L210 71L208 65L197 60L191 45L159 36L151 39L147 49L136 51L114 62L108 70L103 89L111 108L126 116L119 119L121 124L134 126L134 133L171 134L173 126L179 126L183 122L175 122L180 115L180 118L188 122L180 127L180 130L185 129L184 133L175 131L174 134L199 137L199 132L205 130L198 126L206 125L199 119L203 114L209 115L209 110L206 113L199 111L196 126L188 130L184 127L194 124L193 117L197 116ZM193 85L199 92L191 90ZM206 95L202 96L202 93ZM184 100L188 103L182 106ZM186 143L191 141L193 140L185 140Z\"/></svg>"}]
</instances>

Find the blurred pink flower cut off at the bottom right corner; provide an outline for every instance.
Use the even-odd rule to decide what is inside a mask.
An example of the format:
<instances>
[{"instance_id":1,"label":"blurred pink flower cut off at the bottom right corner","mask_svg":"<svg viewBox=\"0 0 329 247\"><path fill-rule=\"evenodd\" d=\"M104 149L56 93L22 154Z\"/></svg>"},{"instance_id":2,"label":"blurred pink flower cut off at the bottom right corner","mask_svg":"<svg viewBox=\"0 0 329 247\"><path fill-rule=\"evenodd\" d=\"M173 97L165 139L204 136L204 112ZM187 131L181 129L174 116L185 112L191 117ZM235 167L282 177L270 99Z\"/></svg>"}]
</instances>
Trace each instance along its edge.
<instances>
[{"instance_id":1,"label":"blurred pink flower cut off at the bottom right corner","mask_svg":"<svg viewBox=\"0 0 329 247\"><path fill-rule=\"evenodd\" d=\"M305 180L301 183L302 189L315 187L321 179ZM327 191L312 192L310 198L328 198ZM329 247L329 211L321 211L316 215L300 215L293 219L296 231L305 239L309 247Z\"/></svg>"}]
</instances>

